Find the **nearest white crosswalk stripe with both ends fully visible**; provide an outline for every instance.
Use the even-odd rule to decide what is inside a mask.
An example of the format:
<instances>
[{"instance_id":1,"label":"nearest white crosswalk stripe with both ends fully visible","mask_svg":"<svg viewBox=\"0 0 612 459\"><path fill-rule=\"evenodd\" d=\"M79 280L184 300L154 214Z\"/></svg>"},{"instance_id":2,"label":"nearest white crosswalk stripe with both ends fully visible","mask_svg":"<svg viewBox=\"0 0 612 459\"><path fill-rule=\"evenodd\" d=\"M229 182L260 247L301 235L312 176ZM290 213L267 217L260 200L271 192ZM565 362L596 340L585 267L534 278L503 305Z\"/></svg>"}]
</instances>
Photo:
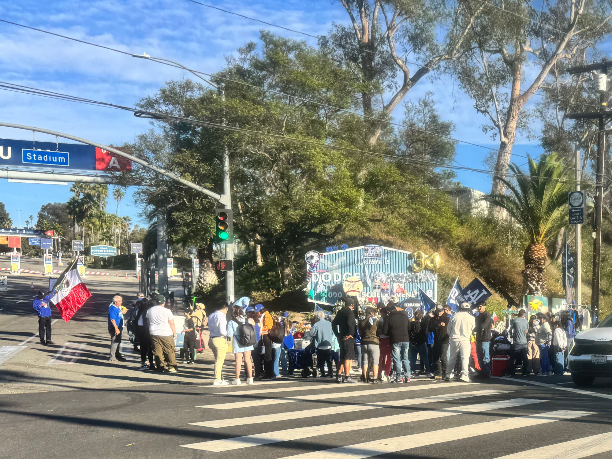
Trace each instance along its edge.
<instances>
[{"instance_id":1,"label":"nearest white crosswalk stripe with both ends fully visible","mask_svg":"<svg viewBox=\"0 0 612 459\"><path fill-rule=\"evenodd\" d=\"M337 422L335 424L314 425L311 427L297 427L293 429L258 433L256 435L246 435L223 440L204 441L181 446L193 449L200 449L204 451L221 452L228 451L231 449L277 443L281 441L294 441L302 438L310 438L313 436L321 435L322 433L324 435L327 435L330 433L365 430L376 427L385 427L387 425L415 422L425 419L436 419L439 417L455 416L457 414L465 414L470 412L491 411L493 409L531 405L532 403L542 403L543 401L548 400L539 400L535 398L514 398L511 400L492 401L490 403L475 403L474 405L453 406L452 408L435 409L431 411L410 411L402 414L394 414L391 416L373 417L368 419L367 422L364 422L363 419L354 419L346 422Z\"/></svg>"}]
</instances>

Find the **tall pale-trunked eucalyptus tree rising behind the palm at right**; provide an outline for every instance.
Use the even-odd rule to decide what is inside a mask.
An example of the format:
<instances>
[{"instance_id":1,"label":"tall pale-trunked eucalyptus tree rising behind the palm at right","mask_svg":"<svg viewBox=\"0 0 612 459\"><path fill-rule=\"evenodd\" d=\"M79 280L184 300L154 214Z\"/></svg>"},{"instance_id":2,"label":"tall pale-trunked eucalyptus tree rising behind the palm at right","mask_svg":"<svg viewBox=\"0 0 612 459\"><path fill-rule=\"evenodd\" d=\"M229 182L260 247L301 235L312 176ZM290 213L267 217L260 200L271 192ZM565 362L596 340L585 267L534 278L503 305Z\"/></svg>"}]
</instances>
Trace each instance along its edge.
<instances>
[{"instance_id":1,"label":"tall pale-trunked eucalyptus tree rising behind the palm at right","mask_svg":"<svg viewBox=\"0 0 612 459\"><path fill-rule=\"evenodd\" d=\"M471 23L451 67L499 140L491 193L506 190L512 147L529 132L526 104L550 80L554 65L584 54L610 34L610 0L493 0Z\"/></svg>"}]
</instances>

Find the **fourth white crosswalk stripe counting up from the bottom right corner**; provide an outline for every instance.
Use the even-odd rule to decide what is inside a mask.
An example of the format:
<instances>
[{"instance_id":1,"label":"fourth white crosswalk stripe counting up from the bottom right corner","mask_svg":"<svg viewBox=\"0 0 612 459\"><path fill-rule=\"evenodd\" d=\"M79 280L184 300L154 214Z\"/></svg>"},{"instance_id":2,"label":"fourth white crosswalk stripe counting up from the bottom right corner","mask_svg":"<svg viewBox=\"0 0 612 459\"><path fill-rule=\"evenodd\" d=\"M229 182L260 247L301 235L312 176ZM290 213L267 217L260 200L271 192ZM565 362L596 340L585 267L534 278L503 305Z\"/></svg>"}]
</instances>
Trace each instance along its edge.
<instances>
[{"instance_id":1,"label":"fourth white crosswalk stripe counting up from the bottom right corner","mask_svg":"<svg viewBox=\"0 0 612 459\"><path fill-rule=\"evenodd\" d=\"M485 397L487 395L507 394L509 390L474 390L472 392L458 392L455 394L433 395L423 398L405 398L403 400L373 401L364 405L328 406L327 408L304 409L302 411L288 411L276 414L260 414L259 416L235 417L233 419L218 419L203 422L191 422L190 425L202 427L233 427L235 425L261 424L263 422L276 422L290 419L304 419L305 417L326 416L343 412L364 411L366 409L384 408L385 406L409 406L437 401L459 400L469 397Z\"/></svg>"}]
</instances>

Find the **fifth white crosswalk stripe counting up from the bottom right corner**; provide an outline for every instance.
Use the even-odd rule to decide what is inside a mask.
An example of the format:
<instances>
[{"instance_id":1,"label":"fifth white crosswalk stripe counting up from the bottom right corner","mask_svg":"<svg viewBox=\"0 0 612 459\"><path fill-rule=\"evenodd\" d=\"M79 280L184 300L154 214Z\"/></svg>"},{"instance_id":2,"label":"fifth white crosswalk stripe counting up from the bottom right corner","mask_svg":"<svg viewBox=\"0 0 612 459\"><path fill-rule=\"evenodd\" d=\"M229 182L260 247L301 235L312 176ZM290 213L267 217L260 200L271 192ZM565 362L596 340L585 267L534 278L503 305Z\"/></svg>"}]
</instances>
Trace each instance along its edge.
<instances>
[{"instance_id":1,"label":"fifth white crosswalk stripe counting up from the bottom right corner","mask_svg":"<svg viewBox=\"0 0 612 459\"><path fill-rule=\"evenodd\" d=\"M450 386L467 386L468 384L474 383L438 383L435 386L431 384L419 384L418 386L402 386L388 389L371 389L371 390L351 390L349 392L334 392L333 394L313 394L313 395L293 395L285 398L260 398L259 400L247 400L247 401L233 401L230 403L217 403L217 405L200 405L196 408L212 408L212 409L234 409L234 408L248 408L250 406L261 406L261 405L278 405L279 403L291 403L293 401L309 401L309 400L327 400L329 398L345 398L345 397L360 397L362 395L379 395L389 394L391 392L407 392L411 390L422 390L422 389L433 389L438 387L450 387ZM352 386L340 386L340 387L352 387Z\"/></svg>"}]
</instances>

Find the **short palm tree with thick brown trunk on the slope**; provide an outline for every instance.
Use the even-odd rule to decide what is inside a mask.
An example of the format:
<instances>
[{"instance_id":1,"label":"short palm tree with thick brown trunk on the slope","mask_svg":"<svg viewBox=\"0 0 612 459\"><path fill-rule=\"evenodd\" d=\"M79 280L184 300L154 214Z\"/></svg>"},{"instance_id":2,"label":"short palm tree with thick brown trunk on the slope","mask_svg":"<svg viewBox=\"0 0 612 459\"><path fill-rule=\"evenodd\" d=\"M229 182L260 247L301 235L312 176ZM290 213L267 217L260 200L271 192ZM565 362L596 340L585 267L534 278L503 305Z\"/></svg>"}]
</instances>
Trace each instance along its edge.
<instances>
[{"instance_id":1,"label":"short palm tree with thick brown trunk on the slope","mask_svg":"<svg viewBox=\"0 0 612 459\"><path fill-rule=\"evenodd\" d=\"M542 295L546 288L545 242L567 224L567 192L570 176L556 153L542 155L538 162L528 155L529 173L511 164L514 181L501 179L508 195L491 194L484 199L505 209L529 236L523 253L523 286L529 295Z\"/></svg>"}]
</instances>

